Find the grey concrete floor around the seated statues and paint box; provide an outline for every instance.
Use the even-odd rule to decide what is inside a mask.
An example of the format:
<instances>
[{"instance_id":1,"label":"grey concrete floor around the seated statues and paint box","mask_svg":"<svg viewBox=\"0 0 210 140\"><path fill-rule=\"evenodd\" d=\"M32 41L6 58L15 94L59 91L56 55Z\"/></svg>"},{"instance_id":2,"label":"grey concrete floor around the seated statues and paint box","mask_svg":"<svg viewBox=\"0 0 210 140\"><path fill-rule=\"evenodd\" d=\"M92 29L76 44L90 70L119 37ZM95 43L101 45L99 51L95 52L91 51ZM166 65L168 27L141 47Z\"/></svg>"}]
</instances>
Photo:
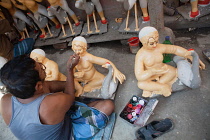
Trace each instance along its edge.
<instances>
[{"instance_id":1,"label":"grey concrete floor around the seated statues and paint box","mask_svg":"<svg viewBox=\"0 0 210 140\"><path fill-rule=\"evenodd\" d=\"M178 31L176 45L184 48L195 49L200 59L206 64L206 70L201 71L202 85L196 90L187 90L173 93L170 97L159 96L159 103L154 109L154 114L148 122L171 118L174 122L174 129L157 140L209 140L210 139L210 63L202 55L202 50L210 47L207 35L210 28L204 30ZM201 41L198 36L202 36ZM198 39L198 40L196 40ZM199 43L199 44L198 44ZM70 48L55 50L52 47L45 47L47 57L59 64L60 71L64 74L66 61L73 54ZM91 44L88 52L111 60L116 67L126 75L126 81L118 86L115 97L115 112L117 113L116 123L112 134L112 140L134 140L134 127L119 117L120 112L132 95L141 96L142 90L137 87L137 80L134 75L135 54L129 52L128 46L122 46L119 41ZM106 73L107 70L96 66ZM0 116L0 140L15 140L10 130L4 124Z\"/></svg>"}]
</instances>

